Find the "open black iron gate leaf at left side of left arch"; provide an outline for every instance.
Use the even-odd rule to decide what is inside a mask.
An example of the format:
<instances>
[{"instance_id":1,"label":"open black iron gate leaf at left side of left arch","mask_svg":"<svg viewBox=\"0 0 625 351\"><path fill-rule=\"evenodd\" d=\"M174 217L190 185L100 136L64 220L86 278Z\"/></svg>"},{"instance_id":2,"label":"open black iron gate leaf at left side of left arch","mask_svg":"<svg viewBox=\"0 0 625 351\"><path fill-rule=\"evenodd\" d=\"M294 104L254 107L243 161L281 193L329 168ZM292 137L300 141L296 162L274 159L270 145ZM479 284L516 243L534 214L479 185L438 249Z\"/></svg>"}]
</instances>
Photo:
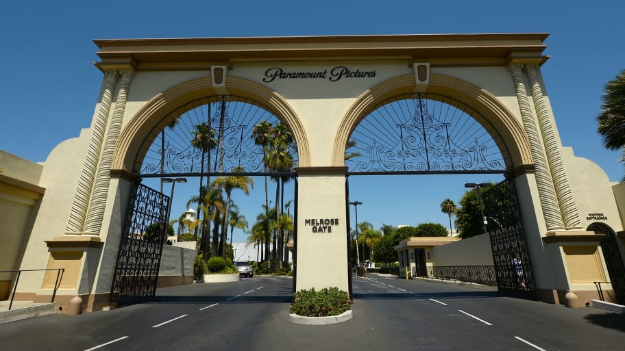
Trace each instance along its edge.
<instances>
[{"instance_id":1,"label":"open black iron gate leaf at left side of left arch","mask_svg":"<svg viewBox=\"0 0 625 351\"><path fill-rule=\"evenodd\" d=\"M168 196L135 185L119 243L111 301L140 301L156 294L169 205Z\"/></svg>"}]
</instances>

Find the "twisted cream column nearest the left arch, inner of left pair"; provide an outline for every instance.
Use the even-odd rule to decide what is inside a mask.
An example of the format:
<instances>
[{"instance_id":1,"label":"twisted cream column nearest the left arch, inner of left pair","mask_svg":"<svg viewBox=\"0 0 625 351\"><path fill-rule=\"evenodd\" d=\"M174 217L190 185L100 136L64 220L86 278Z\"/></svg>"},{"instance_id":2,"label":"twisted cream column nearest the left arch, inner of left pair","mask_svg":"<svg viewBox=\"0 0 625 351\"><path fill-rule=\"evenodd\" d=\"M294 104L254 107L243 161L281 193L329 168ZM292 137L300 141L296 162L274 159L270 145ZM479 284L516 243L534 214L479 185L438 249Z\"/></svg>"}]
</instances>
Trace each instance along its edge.
<instances>
[{"instance_id":1,"label":"twisted cream column nearest the left arch, inner of left pair","mask_svg":"<svg viewBox=\"0 0 625 351\"><path fill-rule=\"evenodd\" d=\"M121 84L117 92L113 116L110 126L108 127L108 133L106 134L95 184L93 185L93 192L89 201L84 225L85 234L99 235L102 226L104 209L106 209L106 198L108 196L108 185L110 184L110 166L112 164L115 144L117 143L117 138L119 138L119 132L121 131L132 75L132 70L124 70L121 72Z\"/></svg>"}]
</instances>

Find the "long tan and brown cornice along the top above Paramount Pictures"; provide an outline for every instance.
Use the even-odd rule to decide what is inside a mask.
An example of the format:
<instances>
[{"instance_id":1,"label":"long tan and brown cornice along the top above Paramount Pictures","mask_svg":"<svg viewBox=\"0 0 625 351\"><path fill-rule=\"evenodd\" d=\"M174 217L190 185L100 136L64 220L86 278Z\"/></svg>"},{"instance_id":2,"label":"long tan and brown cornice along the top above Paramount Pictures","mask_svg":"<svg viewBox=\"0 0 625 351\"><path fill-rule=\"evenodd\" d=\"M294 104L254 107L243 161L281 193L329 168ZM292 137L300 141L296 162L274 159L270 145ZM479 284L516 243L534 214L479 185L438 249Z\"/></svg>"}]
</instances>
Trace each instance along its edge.
<instances>
[{"instance_id":1,"label":"long tan and brown cornice along the top above Paramount Pictures","mask_svg":"<svg viewBox=\"0 0 625 351\"><path fill-rule=\"evenodd\" d=\"M284 36L94 40L101 49L95 65L121 69L210 68L230 62L291 60L402 59L432 66L505 66L510 57L525 62L543 55L548 34L424 34L387 36ZM531 60L531 61L528 61Z\"/></svg>"}]
</instances>

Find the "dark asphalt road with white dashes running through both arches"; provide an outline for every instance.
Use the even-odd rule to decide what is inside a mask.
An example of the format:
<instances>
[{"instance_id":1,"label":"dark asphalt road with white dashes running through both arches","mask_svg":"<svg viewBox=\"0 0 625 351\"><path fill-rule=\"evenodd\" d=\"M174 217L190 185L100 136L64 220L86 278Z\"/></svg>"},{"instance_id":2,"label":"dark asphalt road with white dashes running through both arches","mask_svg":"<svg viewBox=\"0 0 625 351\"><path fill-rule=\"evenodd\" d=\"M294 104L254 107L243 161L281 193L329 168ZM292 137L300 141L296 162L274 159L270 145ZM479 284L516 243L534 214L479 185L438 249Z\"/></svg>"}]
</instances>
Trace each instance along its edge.
<instances>
[{"instance_id":1,"label":"dark asphalt road with white dashes running through both arches","mask_svg":"<svg viewBox=\"0 0 625 351\"><path fill-rule=\"evenodd\" d=\"M0 350L625 350L625 316L369 274L354 317L292 324L291 278L158 290L149 304L0 324Z\"/></svg>"}]
</instances>

